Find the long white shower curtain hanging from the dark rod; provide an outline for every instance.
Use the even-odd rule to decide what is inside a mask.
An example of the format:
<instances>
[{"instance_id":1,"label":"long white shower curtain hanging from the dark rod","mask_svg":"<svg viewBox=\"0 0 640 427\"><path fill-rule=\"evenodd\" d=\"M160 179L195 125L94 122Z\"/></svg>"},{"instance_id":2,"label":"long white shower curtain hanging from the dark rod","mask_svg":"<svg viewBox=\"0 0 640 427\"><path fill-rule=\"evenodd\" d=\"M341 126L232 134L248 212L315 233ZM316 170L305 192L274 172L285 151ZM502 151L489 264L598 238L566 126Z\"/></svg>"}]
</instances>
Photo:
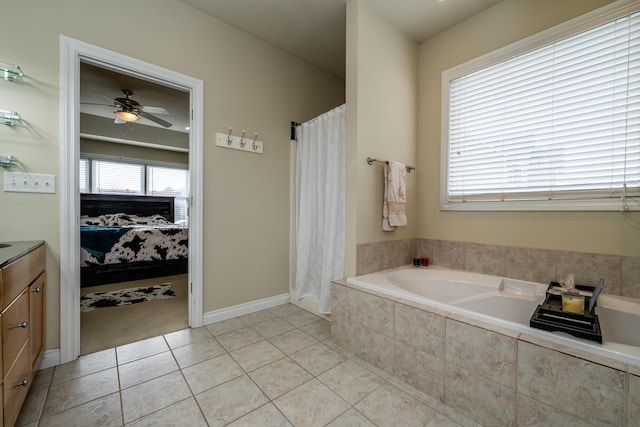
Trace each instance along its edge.
<instances>
[{"instance_id":1,"label":"long white shower curtain hanging from the dark rod","mask_svg":"<svg viewBox=\"0 0 640 427\"><path fill-rule=\"evenodd\" d=\"M331 313L331 281L344 274L346 106L297 127L296 278L299 299Z\"/></svg>"}]
</instances>

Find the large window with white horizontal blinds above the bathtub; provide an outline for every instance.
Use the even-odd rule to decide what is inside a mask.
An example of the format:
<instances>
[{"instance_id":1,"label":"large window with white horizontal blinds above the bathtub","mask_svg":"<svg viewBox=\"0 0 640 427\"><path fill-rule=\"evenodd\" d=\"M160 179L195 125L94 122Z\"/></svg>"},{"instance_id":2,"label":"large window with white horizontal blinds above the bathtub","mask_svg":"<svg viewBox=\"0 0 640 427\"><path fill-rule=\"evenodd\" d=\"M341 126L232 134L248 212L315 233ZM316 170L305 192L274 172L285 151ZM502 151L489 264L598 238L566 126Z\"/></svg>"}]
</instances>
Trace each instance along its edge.
<instances>
[{"instance_id":1,"label":"large window with white horizontal blinds above the bathtub","mask_svg":"<svg viewBox=\"0 0 640 427\"><path fill-rule=\"evenodd\" d=\"M640 209L640 12L523 47L444 73L443 208Z\"/></svg>"}]
</instances>

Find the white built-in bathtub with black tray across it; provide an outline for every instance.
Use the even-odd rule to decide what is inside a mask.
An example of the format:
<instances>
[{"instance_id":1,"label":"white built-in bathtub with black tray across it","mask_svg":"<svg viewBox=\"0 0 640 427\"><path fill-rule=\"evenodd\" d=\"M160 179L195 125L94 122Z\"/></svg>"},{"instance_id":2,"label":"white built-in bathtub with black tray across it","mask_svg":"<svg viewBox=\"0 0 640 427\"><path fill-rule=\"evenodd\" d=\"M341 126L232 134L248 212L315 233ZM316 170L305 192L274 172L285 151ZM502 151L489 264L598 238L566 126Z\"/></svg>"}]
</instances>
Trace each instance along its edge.
<instances>
[{"instance_id":1,"label":"white built-in bathtub with black tray across it","mask_svg":"<svg viewBox=\"0 0 640 427\"><path fill-rule=\"evenodd\" d=\"M603 293L596 313L603 343L529 327L548 284L431 267L406 266L347 279L376 293L425 304L640 366L640 301ZM605 284L606 291L606 284Z\"/></svg>"}]
</instances>

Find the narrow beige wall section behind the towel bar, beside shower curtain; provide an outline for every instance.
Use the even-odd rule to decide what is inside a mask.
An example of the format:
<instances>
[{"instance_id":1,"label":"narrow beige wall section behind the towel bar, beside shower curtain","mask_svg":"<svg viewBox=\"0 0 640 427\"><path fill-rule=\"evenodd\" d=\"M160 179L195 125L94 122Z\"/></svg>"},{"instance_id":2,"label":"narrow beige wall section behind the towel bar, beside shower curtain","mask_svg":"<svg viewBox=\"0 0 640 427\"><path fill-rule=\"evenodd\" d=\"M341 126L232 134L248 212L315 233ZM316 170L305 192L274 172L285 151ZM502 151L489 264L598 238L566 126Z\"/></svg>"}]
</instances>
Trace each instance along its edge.
<instances>
[{"instance_id":1,"label":"narrow beige wall section behind the towel bar, beside shower curtain","mask_svg":"<svg viewBox=\"0 0 640 427\"><path fill-rule=\"evenodd\" d=\"M347 22L347 225L356 229L347 242L412 238L419 223L416 173L407 176L408 226L384 232L382 164L366 159L417 162L418 45L365 1L347 3ZM351 249L347 275L355 273Z\"/></svg>"}]
</instances>

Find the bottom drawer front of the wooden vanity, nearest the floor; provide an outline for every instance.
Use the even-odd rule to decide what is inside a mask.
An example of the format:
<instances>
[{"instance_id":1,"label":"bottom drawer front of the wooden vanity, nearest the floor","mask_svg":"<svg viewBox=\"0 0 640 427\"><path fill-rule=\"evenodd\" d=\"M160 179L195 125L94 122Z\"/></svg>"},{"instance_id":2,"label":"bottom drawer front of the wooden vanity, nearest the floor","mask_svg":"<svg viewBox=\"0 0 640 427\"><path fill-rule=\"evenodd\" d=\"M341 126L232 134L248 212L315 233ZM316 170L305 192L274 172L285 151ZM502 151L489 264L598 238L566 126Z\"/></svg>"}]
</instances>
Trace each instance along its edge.
<instances>
[{"instance_id":1,"label":"bottom drawer front of the wooden vanity, nearest the floor","mask_svg":"<svg viewBox=\"0 0 640 427\"><path fill-rule=\"evenodd\" d=\"M7 373L2 386L5 426L15 424L34 376L35 372L31 370L29 358L29 345L26 344L22 347L22 351L18 353L16 363Z\"/></svg>"}]
</instances>

